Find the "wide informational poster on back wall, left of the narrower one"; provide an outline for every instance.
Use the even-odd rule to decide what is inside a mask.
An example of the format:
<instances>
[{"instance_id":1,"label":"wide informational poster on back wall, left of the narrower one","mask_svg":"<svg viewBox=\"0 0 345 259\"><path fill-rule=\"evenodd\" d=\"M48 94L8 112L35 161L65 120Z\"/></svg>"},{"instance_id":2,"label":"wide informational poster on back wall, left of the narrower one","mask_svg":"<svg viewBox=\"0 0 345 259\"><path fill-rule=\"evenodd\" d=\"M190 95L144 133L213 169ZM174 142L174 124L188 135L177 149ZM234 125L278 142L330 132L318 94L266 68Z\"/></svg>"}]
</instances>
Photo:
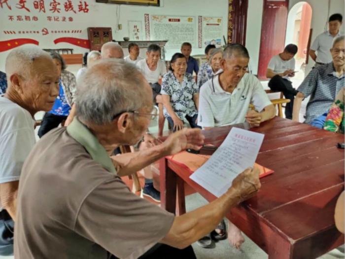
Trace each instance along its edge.
<instances>
[{"instance_id":1,"label":"wide informational poster on back wall, left of the narrower one","mask_svg":"<svg viewBox=\"0 0 345 259\"><path fill-rule=\"evenodd\" d=\"M197 44L194 16L150 15L150 40L168 40L167 49L179 49L182 42Z\"/></svg>"}]
</instances>

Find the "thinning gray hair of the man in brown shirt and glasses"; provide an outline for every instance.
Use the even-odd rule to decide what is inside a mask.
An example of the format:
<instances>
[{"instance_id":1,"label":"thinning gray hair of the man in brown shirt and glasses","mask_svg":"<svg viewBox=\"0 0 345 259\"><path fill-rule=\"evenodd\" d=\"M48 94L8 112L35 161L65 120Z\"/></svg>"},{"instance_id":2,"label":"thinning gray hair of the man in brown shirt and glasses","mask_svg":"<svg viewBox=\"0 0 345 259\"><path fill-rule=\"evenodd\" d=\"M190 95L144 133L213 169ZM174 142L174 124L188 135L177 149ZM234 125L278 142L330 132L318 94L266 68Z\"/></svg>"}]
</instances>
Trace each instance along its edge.
<instances>
[{"instance_id":1,"label":"thinning gray hair of the man in brown shirt and glasses","mask_svg":"<svg viewBox=\"0 0 345 259\"><path fill-rule=\"evenodd\" d=\"M137 111L149 100L144 82L135 65L121 59L101 59L81 77L75 94L76 114L104 125L116 114Z\"/></svg>"}]
</instances>

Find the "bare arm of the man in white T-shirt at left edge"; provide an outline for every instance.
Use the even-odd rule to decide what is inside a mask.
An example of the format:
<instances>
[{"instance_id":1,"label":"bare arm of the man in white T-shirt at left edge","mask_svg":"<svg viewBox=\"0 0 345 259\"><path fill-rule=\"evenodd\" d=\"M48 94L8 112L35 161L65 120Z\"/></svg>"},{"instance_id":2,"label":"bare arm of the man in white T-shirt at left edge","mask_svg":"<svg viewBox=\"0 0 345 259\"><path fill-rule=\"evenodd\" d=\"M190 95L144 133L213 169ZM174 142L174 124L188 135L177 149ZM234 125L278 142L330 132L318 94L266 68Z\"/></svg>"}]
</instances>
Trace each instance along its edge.
<instances>
[{"instance_id":1,"label":"bare arm of the man in white T-shirt at left edge","mask_svg":"<svg viewBox=\"0 0 345 259\"><path fill-rule=\"evenodd\" d=\"M15 221L17 212L17 194L19 181L0 184L1 206L8 212Z\"/></svg>"}]
</instances>

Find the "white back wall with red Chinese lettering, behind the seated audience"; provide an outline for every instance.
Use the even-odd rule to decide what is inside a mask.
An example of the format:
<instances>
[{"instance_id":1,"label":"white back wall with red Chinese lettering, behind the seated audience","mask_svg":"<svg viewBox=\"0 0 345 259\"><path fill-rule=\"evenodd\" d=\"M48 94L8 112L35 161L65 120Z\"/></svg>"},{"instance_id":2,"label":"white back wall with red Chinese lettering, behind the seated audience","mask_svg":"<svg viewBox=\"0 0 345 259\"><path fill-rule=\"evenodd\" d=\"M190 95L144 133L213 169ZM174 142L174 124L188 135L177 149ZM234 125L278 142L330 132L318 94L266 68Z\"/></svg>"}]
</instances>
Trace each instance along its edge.
<instances>
[{"instance_id":1,"label":"white back wall with red Chinese lettering, behind the seated audience","mask_svg":"<svg viewBox=\"0 0 345 259\"><path fill-rule=\"evenodd\" d=\"M49 9L51 0L44 0L46 9ZM113 38L116 40L123 40L123 37L128 37L128 21L141 21L144 30L144 14L158 14L158 15L190 15L190 16L220 16L223 17L223 34L227 37L227 18L228 18L228 0L161 0L161 6L140 6L140 5L118 5L96 3L95 0L86 0L89 4L89 13L72 14L73 22L48 22L46 14L38 13L32 6L32 0L27 1L27 5L31 7L31 14L25 10L19 10L15 7L18 1L9 1L12 3L12 11L6 8L0 8L0 41L18 38L18 35L5 35L3 30L18 31L18 30L37 30L41 31L43 27L50 30L82 30L80 34L73 35L25 35L26 37L35 38L39 41L41 48L73 48L74 53L84 53L88 51L85 48L77 47L69 43L54 44L53 40L57 37L78 37L87 39L87 27L111 27L113 30ZM61 3L63 1L60 1ZM79 0L72 0L74 5L77 5ZM63 4L61 4L63 5ZM64 8L64 7L62 7ZM76 7L77 8L77 7ZM119 17L116 16L116 10L119 8ZM64 10L63 10L64 11ZM63 12L62 11L62 12ZM39 18L38 22L17 22L9 21L8 15L35 15ZM54 16L54 15L52 15ZM59 16L62 16L59 15ZM116 24L119 19L119 24L122 24L122 30L117 30ZM182 42L181 42L182 43ZM179 49L171 49L166 53L166 59L170 59L173 53ZM0 52L0 70L4 71L4 60L9 51ZM192 55L204 54L204 49L198 49L193 46Z\"/></svg>"}]
</instances>

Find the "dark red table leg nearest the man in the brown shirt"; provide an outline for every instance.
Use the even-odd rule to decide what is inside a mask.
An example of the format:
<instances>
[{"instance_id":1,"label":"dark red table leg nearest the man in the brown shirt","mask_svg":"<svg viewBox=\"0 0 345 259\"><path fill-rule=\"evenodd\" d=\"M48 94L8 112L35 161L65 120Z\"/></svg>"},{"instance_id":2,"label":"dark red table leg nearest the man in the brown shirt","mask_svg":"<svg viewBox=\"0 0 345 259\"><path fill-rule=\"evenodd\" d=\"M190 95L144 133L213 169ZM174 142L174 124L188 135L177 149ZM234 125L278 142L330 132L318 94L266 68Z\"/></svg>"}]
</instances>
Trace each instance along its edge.
<instances>
[{"instance_id":1,"label":"dark red table leg nearest the man in the brown shirt","mask_svg":"<svg viewBox=\"0 0 345 259\"><path fill-rule=\"evenodd\" d=\"M176 174L168 168L168 160L162 158L159 164L161 185L161 208L176 212Z\"/></svg>"}]
</instances>

